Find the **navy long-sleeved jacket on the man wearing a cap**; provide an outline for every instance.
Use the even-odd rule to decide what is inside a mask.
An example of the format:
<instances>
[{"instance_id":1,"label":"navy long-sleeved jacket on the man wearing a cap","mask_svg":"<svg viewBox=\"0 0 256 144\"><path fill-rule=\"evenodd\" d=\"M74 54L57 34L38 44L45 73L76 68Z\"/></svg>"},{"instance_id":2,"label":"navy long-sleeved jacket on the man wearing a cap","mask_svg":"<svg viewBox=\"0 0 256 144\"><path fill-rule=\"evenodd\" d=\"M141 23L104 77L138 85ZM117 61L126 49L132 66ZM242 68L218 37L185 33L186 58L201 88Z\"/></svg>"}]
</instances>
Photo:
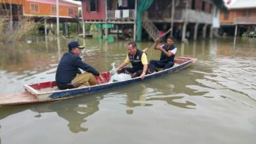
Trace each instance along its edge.
<instances>
[{"instance_id":1,"label":"navy long-sleeved jacket on the man wearing a cap","mask_svg":"<svg viewBox=\"0 0 256 144\"><path fill-rule=\"evenodd\" d=\"M73 52L66 52L58 63L55 80L59 84L68 84L75 78L77 73L81 73L78 69L83 69L93 75L100 75L96 69L84 63L81 58Z\"/></svg>"}]
</instances>

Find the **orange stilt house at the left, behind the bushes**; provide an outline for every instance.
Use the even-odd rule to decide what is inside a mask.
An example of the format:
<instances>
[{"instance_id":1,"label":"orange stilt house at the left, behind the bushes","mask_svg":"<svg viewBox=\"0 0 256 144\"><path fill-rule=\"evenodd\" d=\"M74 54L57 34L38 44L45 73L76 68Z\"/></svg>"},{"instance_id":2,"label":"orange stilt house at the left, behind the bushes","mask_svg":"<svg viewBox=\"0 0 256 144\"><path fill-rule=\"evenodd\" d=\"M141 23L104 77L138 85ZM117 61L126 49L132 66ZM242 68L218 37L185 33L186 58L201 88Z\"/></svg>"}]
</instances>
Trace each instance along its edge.
<instances>
[{"instance_id":1,"label":"orange stilt house at the left, behind the bushes","mask_svg":"<svg viewBox=\"0 0 256 144\"><path fill-rule=\"evenodd\" d=\"M64 26L66 35L68 22L75 22L78 26L78 7L81 4L59 0L59 20ZM56 23L56 0L1 0L0 18L10 29L18 27L21 18L29 18L34 22L44 22L46 26ZM55 27L51 28L55 31ZM48 29L49 30L49 29ZM44 31L44 28L43 30ZM66 33L65 33L66 31Z\"/></svg>"}]
</instances>

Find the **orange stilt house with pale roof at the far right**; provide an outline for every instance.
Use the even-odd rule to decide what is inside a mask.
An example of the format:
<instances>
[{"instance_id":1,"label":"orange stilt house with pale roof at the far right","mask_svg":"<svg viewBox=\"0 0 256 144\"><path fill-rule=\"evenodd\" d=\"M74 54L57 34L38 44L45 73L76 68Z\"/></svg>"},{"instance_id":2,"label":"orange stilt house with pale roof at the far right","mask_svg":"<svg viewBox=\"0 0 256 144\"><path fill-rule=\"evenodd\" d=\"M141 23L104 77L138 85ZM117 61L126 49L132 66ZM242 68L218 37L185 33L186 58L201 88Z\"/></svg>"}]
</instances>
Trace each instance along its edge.
<instances>
[{"instance_id":1,"label":"orange stilt house with pale roof at the far right","mask_svg":"<svg viewBox=\"0 0 256 144\"><path fill-rule=\"evenodd\" d=\"M220 35L256 37L256 1L236 0L221 10Z\"/></svg>"}]
</instances>

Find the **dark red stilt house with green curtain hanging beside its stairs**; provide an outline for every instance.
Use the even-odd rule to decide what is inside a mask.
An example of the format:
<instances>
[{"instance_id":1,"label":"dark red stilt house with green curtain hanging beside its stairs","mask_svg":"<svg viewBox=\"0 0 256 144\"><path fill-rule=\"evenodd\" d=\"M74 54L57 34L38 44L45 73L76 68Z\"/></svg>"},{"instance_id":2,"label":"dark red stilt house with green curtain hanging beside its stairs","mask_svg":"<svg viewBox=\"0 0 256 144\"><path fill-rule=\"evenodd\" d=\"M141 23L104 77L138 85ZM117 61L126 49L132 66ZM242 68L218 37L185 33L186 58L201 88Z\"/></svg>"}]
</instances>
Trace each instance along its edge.
<instances>
[{"instance_id":1,"label":"dark red stilt house with green curtain hanging beside its stairs","mask_svg":"<svg viewBox=\"0 0 256 144\"><path fill-rule=\"evenodd\" d=\"M131 33L141 41L142 33L156 40L172 28L177 39L212 37L219 28L219 8L211 0L79 0L85 23L102 24L108 35L110 26ZM113 26L113 25L112 25ZM127 30L128 29L128 30Z\"/></svg>"}]
</instances>

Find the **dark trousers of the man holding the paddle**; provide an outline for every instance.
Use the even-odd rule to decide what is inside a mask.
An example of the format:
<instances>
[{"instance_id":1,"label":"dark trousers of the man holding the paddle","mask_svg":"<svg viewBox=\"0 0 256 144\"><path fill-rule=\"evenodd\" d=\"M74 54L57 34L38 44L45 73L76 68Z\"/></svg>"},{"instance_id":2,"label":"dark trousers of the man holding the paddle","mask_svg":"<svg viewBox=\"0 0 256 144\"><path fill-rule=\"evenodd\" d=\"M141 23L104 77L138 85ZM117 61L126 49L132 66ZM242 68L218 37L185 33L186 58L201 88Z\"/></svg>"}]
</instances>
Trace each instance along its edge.
<instances>
[{"instance_id":1,"label":"dark trousers of the man holding the paddle","mask_svg":"<svg viewBox=\"0 0 256 144\"><path fill-rule=\"evenodd\" d=\"M150 60L150 73L158 70L158 67L169 69L173 67L174 63L170 61Z\"/></svg>"}]
</instances>

